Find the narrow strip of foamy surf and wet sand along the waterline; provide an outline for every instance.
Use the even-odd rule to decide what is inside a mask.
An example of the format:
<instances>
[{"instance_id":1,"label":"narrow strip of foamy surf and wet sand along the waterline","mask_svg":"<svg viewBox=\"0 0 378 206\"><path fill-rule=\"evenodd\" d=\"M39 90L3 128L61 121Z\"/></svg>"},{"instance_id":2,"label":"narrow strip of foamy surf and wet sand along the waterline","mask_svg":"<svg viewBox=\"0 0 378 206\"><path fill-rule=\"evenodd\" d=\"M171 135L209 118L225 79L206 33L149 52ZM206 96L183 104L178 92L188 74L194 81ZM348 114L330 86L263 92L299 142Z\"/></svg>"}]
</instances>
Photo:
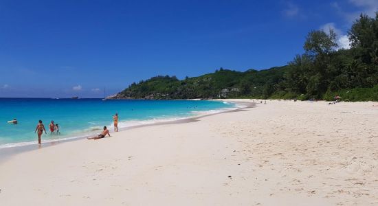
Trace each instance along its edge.
<instances>
[{"instance_id":1,"label":"narrow strip of foamy surf and wet sand along the waterline","mask_svg":"<svg viewBox=\"0 0 378 206\"><path fill-rule=\"evenodd\" d=\"M223 108L223 109L221 108L221 110L224 110L224 111L218 111L216 113L206 113L208 111L205 111L205 114L182 117L182 118L174 119L174 120L167 120L167 121L163 120L162 122L154 122L154 123L148 123L148 124L125 126L125 127L119 128L118 132L122 132L122 131L125 131L125 130L131 130L133 128L142 128L142 127L145 127L145 126L164 125L164 124L184 124L184 123L187 123L187 122L194 122L195 120L197 120L201 117L207 117L207 116L210 116L210 115L217 115L217 114L220 114L220 113L236 112L236 111L239 111L243 108L252 108L255 105L255 103L243 102L243 101L226 101L226 100L221 100L221 99L220 100L212 100L212 101L231 102L231 103L235 104L235 107L234 108ZM239 107L239 106L243 106L243 107ZM111 131L111 133L115 133L115 132ZM48 141L42 142L41 145L38 145L37 142L25 142L26 143L25 145L0 148L0 163L2 161L4 161L5 159L12 157L12 155L17 155L19 153L28 152L28 151L32 151L32 150L38 150L38 149L49 147L49 146L56 146L57 144L63 144L65 142L78 141L80 139L87 139L87 137L91 137L91 136L96 135L96 134L97 133L80 135L79 137L65 137L63 139L48 140Z\"/></svg>"}]
</instances>

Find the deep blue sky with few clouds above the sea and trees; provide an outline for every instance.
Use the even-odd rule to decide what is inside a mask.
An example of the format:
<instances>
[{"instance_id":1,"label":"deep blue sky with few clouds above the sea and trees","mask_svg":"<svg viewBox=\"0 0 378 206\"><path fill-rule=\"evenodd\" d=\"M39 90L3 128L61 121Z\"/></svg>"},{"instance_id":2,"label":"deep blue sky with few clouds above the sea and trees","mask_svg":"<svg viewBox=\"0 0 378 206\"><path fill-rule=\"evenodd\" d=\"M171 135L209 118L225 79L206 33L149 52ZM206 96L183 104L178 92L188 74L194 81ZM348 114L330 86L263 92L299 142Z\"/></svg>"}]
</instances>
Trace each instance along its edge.
<instances>
[{"instance_id":1,"label":"deep blue sky with few clouds above the sea and trees","mask_svg":"<svg viewBox=\"0 0 378 206\"><path fill-rule=\"evenodd\" d=\"M0 0L0 98L100 98L157 75L286 65L310 30L340 47L376 0Z\"/></svg>"}]
</instances>

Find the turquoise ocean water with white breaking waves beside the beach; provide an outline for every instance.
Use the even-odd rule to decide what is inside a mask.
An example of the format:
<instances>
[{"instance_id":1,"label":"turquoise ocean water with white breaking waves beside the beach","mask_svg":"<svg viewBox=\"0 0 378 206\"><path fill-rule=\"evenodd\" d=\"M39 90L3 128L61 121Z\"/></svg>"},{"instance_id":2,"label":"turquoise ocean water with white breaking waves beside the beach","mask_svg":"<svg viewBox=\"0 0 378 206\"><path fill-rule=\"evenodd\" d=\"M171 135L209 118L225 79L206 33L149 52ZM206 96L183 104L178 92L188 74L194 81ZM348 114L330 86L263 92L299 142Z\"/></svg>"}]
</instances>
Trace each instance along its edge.
<instances>
[{"instance_id":1,"label":"turquoise ocean water with white breaking waves beside the beach","mask_svg":"<svg viewBox=\"0 0 378 206\"><path fill-rule=\"evenodd\" d=\"M34 130L38 119L47 130L42 141L51 142L98 134L102 126L108 126L112 131L115 113L120 117L118 127L127 128L235 107L230 102L219 101L0 98L0 149L36 144ZM19 124L8 124L14 118ZM51 120L60 126L60 135L49 133Z\"/></svg>"}]
</instances>

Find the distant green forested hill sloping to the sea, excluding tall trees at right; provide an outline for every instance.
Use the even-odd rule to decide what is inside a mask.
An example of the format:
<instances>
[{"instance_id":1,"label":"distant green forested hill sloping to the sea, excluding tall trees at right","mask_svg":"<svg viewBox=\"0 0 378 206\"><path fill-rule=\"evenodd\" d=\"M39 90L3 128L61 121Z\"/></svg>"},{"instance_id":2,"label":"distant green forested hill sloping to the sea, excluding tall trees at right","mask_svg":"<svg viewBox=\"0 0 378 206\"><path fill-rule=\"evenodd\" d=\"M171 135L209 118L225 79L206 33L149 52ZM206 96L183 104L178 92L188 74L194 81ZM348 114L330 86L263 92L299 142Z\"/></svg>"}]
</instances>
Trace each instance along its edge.
<instances>
[{"instance_id":1,"label":"distant green forested hill sloping to the sea, excluding tall trees at right","mask_svg":"<svg viewBox=\"0 0 378 206\"><path fill-rule=\"evenodd\" d=\"M178 80L175 76L157 76L133 83L116 98L192 99L268 97L284 80L286 67L245 72L219 69L203 76Z\"/></svg>"}]
</instances>

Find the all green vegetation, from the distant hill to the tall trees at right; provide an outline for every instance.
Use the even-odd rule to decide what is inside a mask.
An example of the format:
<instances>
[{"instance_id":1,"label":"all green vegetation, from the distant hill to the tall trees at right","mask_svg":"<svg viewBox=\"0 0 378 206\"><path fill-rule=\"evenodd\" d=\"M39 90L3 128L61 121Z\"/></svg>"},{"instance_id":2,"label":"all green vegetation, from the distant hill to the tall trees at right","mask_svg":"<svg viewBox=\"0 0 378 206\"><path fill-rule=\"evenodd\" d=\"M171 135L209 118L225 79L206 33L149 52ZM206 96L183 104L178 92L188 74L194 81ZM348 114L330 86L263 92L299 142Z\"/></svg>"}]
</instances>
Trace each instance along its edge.
<instances>
[{"instance_id":1,"label":"all green vegetation, from the distant hill to the tall trees at right","mask_svg":"<svg viewBox=\"0 0 378 206\"><path fill-rule=\"evenodd\" d=\"M245 72L219 69L194 78L157 76L133 83L115 98L309 98L378 100L378 12L359 16L348 32L350 49L337 49L336 34L311 31L304 54L288 65Z\"/></svg>"}]
</instances>

